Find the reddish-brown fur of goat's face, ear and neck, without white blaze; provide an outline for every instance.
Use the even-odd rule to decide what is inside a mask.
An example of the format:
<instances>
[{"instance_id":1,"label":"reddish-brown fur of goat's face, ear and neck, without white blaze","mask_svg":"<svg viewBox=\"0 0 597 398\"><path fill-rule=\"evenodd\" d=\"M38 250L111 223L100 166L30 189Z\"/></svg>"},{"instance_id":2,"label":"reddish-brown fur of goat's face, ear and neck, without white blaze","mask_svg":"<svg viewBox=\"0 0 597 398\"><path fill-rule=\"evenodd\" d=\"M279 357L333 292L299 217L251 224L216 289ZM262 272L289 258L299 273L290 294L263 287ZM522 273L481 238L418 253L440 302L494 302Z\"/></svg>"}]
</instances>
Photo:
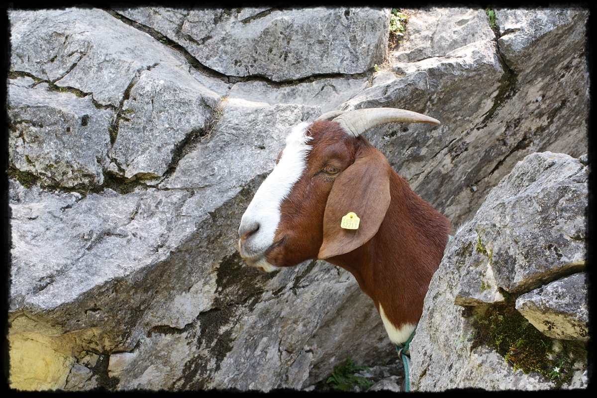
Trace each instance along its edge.
<instances>
[{"instance_id":1,"label":"reddish-brown fur of goat's face, ear and neck, without white blaze","mask_svg":"<svg viewBox=\"0 0 597 398\"><path fill-rule=\"evenodd\" d=\"M307 167L282 201L274 242L283 240L267 261L288 267L325 258L350 271L394 326L416 324L444 253L448 220L419 198L364 137L349 136L329 121L316 121L309 131L313 148ZM329 165L340 172L322 171ZM361 217L359 230L339 228L349 211Z\"/></svg>"}]
</instances>

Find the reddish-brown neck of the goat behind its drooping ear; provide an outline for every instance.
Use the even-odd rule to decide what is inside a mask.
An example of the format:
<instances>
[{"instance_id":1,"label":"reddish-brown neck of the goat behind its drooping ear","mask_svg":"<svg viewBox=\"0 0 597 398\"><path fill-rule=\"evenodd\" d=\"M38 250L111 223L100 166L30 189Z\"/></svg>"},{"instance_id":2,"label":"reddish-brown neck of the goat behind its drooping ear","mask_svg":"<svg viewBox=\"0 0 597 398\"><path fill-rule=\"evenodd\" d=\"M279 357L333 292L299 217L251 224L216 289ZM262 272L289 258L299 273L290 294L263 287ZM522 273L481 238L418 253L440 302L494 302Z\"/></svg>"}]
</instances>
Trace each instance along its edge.
<instances>
[{"instance_id":1,"label":"reddish-brown neck of the goat behind its drooping ear","mask_svg":"<svg viewBox=\"0 0 597 398\"><path fill-rule=\"evenodd\" d=\"M392 199L377 234L352 252L329 258L355 276L395 328L416 325L444 251L448 222L395 172ZM381 311L380 311L381 312ZM386 325L387 328L387 325ZM391 336L390 336L391 338Z\"/></svg>"}]
</instances>

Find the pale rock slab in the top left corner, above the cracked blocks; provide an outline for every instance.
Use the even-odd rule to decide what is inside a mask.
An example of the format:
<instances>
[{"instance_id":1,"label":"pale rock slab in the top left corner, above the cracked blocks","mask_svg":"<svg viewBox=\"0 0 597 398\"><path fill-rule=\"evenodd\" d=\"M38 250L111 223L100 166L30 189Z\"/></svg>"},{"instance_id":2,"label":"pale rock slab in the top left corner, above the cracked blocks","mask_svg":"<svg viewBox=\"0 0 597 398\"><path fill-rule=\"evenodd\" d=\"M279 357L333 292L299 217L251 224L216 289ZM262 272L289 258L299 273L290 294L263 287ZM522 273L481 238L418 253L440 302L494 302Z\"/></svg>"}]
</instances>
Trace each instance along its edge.
<instances>
[{"instance_id":1,"label":"pale rock slab in the top left corner, above the cracked blocks","mask_svg":"<svg viewBox=\"0 0 597 398\"><path fill-rule=\"evenodd\" d=\"M101 105L118 107L137 73L156 63L186 68L181 55L97 8L13 10L9 17L11 70L93 92Z\"/></svg>"}]
</instances>

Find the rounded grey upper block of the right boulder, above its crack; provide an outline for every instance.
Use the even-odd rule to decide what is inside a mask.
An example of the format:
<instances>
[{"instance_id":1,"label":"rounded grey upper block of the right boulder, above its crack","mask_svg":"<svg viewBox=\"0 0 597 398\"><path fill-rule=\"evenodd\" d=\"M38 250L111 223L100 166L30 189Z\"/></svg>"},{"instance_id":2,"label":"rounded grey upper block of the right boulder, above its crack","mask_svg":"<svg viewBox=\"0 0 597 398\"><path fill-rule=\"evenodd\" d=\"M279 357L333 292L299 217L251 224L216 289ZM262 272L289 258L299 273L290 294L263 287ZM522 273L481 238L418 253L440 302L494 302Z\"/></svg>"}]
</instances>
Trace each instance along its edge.
<instances>
[{"instance_id":1,"label":"rounded grey upper block of the right boulder, above its crack","mask_svg":"<svg viewBox=\"0 0 597 398\"><path fill-rule=\"evenodd\" d=\"M534 153L519 162L479 208L475 255L456 304L485 303L497 288L528 292L582 266L587 178L586 166L568 155Z\"/></svg>"}]
</instances>

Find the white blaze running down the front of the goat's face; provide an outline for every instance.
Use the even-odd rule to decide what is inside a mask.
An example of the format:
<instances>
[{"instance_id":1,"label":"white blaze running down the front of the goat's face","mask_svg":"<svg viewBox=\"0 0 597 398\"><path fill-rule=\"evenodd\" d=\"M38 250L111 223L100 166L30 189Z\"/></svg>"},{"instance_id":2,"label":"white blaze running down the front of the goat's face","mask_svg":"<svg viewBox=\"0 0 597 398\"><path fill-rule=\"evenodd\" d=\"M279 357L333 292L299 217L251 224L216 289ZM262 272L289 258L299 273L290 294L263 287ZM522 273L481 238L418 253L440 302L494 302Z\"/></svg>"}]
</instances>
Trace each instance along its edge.
<instances>
[{"instance_id":1,"label":"white blaze running down the front of the goat's face","mask_svg":"<svg viewBox=\"0 0 597 398\"><path fill-rule=\"evenodd\" d=\"M273 238L280 222L280 205L287 198L307 165L307 155L311 146L307 142L312 137L306 135L307 122L302 122L293 128L286 138L286 146L278 164L261 184L253 200L249 203L245 214L242 215L238 234L255 230L240 246L241 256L251 261L251 265L263 268L265 271L276 269L268 264L264 252L273 245Z\"/></svg>"}]
</instances>

